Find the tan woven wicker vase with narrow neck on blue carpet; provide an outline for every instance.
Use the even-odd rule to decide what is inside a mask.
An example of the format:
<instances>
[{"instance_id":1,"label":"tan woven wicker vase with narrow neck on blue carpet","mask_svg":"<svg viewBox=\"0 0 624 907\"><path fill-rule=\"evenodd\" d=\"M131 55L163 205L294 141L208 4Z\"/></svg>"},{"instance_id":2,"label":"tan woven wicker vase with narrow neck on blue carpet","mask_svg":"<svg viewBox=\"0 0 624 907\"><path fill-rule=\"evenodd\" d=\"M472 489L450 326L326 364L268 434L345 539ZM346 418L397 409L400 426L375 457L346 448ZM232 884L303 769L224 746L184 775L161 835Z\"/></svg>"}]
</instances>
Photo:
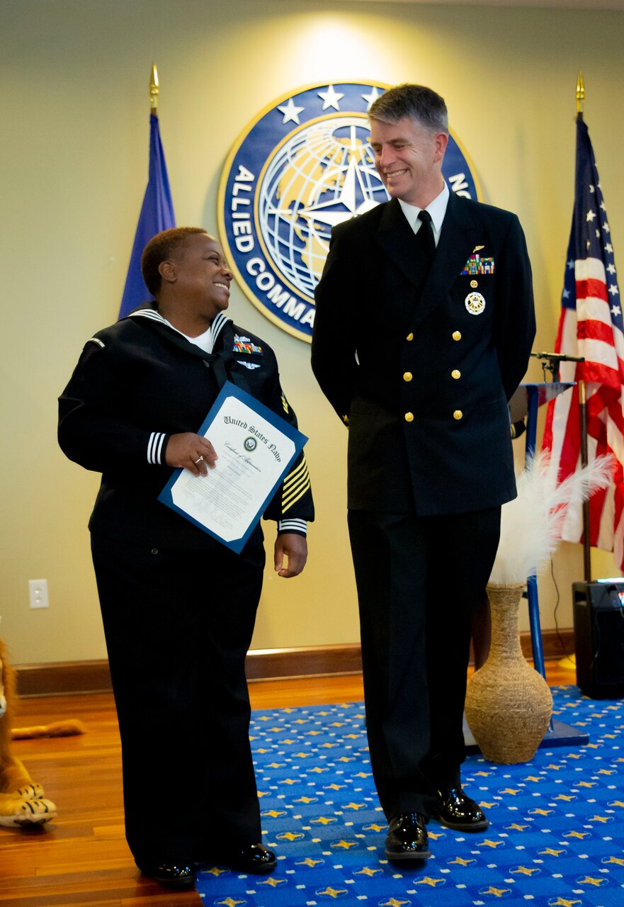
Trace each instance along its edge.
<instances>
[{"instance_id":1,"label":"tan woven wicker vase with narrow neck on blue carpet","mask_svg":"<svg viewBox=\"0 0 624 907\"><path fill-rule=\"evenodd\" d=\"M488 761L504 765L532 759L552 714L548 684L522 655L518 609L523 588L523 583L488 586L490 655L466 693L466 719L477 745Z\"/></svg>"}]
</instances>

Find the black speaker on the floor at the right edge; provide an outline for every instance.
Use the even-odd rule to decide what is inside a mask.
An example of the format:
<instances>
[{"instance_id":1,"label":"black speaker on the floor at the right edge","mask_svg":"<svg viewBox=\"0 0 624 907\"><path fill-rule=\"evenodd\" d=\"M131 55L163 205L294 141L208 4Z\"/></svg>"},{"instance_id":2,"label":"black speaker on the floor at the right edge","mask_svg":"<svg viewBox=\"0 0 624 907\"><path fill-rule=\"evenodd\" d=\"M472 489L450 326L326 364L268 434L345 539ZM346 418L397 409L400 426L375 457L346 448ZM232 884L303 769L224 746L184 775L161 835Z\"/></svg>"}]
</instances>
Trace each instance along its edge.
<instances>
[{"instance_id":1,"label":"black speaker on the floor at the right edge","mask_svg":"<svg viewBox=\"0 0 624 907\"><path fill-rule=\"evenodd\" d=\"M624 579L572 583L576 679L592 699L624 697Z\"/></svg>"}]
</instances>

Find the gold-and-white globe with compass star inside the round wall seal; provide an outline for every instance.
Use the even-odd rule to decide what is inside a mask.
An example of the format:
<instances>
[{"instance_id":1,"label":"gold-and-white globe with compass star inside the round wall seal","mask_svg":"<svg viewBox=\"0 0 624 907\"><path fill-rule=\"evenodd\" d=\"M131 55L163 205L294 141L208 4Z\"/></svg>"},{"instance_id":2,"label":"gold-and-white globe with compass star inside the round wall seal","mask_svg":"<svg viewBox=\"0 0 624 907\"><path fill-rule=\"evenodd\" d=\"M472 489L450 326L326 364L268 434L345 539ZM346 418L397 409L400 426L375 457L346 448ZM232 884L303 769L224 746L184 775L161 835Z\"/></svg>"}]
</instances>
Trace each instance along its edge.
<instances>
[{"instance_id":1,"label":"gold-and-white globe with compass star inside the round wall seal","mask_svg":"<svg viewBox=\"0 0 624 907\"><path fill-rule=\"evenodd\" d=\"M258 183L265 254L280 278L313 301L332 227L387 199L365 115L307 123L278 146Z\"/></svg>"}]
</instances>

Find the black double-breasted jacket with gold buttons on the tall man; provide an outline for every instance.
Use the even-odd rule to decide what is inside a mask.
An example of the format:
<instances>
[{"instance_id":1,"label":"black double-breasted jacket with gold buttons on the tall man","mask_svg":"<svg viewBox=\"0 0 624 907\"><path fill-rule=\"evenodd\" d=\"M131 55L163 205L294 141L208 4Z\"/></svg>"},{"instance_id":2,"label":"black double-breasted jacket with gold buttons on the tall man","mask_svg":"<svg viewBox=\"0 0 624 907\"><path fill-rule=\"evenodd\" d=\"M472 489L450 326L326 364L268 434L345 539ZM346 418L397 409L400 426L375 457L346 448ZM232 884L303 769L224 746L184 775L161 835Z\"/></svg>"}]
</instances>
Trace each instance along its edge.
<instances>
[{"instance_id":1,"label":"black double-breasted jacket with gold buttons on the tall man","mask_svg":"<svg viewBox=\"0 0 624 907\"><path fill-rule=\"evenodd\" d=\"M473 255L492 259L493 273L463 274ZM515 497L507 401L535 333L517 217L452 192L419 297L420 284L397 200L333 230L312 367L349 427L348 506L420 515L497 506ZM482 297L476 313L471 293Z\"/></svg>"}]
</instances>

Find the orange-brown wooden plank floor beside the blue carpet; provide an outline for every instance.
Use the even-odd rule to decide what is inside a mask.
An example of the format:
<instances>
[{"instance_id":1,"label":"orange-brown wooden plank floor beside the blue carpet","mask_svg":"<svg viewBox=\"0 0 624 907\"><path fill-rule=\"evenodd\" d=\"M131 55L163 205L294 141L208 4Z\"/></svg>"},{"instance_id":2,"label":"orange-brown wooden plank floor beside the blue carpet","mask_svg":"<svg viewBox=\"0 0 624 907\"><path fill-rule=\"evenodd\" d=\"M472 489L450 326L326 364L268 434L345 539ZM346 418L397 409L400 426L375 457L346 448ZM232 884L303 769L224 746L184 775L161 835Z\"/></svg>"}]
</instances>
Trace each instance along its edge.
<instances>
[{"instance_id":1,"label":"orange-brown wooden plank floor beside the blue carpet","mask_svg":"<svg viewBox=\"0 0 624 907\"><path fill-rule=\"evenodd\" d=\"M551 685L574 671L547 663ZM361 677L297 678L249 685L252 707L352 702ZM111 694L23 699L15 727L80 718L83 736L13 742L35 781L58 808L32 831L0 827L0 902L15 907L200 907L194 890L175 893L138 873L123 836L121 748ZM169 800L163 776L163 823Z\"/></svg>"}]
</instances>

